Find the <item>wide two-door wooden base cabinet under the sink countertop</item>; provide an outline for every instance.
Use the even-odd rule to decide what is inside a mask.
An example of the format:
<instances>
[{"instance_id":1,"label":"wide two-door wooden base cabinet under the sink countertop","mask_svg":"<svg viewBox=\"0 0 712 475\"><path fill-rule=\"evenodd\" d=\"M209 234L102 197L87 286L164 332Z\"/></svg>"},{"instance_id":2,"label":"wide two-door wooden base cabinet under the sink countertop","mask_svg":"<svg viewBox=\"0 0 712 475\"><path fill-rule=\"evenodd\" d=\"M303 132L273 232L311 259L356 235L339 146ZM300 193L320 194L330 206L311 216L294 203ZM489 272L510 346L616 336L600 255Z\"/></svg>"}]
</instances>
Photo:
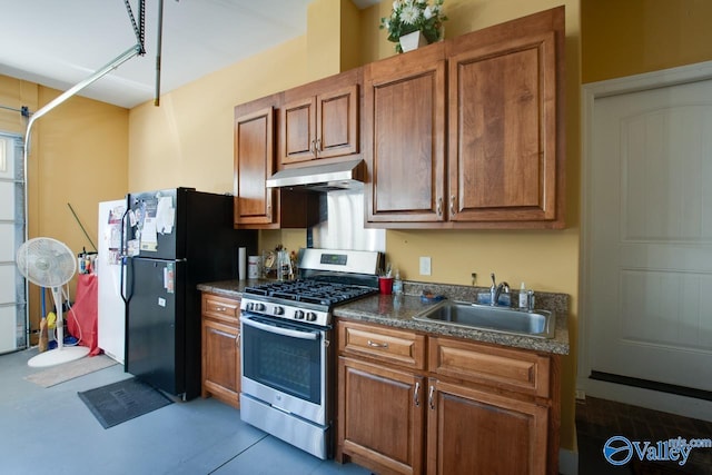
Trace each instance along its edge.
<instances>
[{"instance_id":1,"label":"wide two-door wooden base cabinet under the sink countertop","mask_svg":"<svg viewBox=\"0 0 712 475\"><path fill-rule=\"evenodd\" d=\"M337 461L378 474L557 473L555 356L345 320L337 329Z\"/></svg>"}]
</instances>

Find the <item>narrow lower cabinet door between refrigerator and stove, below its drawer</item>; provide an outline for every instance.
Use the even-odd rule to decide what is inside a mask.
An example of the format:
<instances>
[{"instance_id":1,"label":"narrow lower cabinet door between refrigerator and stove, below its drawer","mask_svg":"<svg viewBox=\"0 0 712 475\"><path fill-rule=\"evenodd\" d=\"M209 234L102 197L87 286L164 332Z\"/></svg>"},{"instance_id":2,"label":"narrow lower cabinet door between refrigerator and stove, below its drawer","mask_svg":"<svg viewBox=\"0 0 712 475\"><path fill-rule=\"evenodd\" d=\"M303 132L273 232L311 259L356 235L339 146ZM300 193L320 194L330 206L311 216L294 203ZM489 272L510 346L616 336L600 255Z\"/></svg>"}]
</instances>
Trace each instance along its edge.
<instances>
[{"instance_id":1,"label":"narrow lower cabinet door between refrigerator and stove, below its drawer","mask_svg":"<svg viewBox=\"0 0 712 475\"><path fill-rule=\"evenodd\" d=\"M202 319L202 396L210 394L239 407L239 328Z\"/></svg>"}]
</instances>

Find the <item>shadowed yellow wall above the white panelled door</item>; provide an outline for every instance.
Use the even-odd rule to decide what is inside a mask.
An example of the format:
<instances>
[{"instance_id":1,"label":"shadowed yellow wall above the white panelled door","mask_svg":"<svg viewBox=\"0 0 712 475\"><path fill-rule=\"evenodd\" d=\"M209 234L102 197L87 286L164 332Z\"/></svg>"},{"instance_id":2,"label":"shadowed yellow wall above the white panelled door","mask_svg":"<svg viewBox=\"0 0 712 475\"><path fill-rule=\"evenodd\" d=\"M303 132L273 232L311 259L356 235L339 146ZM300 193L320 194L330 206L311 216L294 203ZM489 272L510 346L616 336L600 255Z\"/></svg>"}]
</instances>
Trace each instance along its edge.
<instances>
[{"instance_id":1,"label":"shadowed yellow wall above the white panelled door","mask_svg":"<svg viewBox=\"0 0 712 475\"><path fill-rule=\"evenodd\" d=\"M712 59L712 2L582 0L583 82Z\"/></svg>"}]
</instances>

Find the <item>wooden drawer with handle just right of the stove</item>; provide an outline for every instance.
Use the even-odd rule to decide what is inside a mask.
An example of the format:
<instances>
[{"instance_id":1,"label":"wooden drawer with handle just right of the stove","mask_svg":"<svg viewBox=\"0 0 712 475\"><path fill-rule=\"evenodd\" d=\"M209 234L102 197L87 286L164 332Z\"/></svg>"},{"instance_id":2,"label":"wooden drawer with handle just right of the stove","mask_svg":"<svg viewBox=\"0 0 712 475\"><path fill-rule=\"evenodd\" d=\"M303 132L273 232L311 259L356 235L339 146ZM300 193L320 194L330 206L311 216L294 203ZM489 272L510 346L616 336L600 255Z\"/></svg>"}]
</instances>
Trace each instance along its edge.
<instances>
[{"instance_id":1,"label":"wooden drawer with handle just right of the stove","mask_svg":"<svg viewBox=\"0 0 712 475\"><path fill-rule=\"evenodd\" d=\"M425 336L409 330L339 321L338 349L409 368L425 368Z\"/></svg>"}]
</instances>

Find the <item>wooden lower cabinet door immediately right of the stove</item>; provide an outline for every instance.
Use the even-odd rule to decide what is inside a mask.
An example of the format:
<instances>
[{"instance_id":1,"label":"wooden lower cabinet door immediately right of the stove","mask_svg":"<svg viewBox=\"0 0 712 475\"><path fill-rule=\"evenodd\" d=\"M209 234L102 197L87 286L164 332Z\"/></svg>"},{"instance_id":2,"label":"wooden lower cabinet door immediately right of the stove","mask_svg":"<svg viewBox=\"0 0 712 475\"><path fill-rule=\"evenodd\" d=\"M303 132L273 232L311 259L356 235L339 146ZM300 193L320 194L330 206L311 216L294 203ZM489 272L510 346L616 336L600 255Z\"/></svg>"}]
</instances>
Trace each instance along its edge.
<instances>
[{"instance_id":1,"label":"wooden lower cabinet door immediately right of the stove","mask_svg":"<svg viewBox=\"0 0 712 475\"><path fill-rule=\"evenodd\" d=\"M375 472L423 472L424 378L339 357L338 446Z\"/></svg>"}]
</instances>

